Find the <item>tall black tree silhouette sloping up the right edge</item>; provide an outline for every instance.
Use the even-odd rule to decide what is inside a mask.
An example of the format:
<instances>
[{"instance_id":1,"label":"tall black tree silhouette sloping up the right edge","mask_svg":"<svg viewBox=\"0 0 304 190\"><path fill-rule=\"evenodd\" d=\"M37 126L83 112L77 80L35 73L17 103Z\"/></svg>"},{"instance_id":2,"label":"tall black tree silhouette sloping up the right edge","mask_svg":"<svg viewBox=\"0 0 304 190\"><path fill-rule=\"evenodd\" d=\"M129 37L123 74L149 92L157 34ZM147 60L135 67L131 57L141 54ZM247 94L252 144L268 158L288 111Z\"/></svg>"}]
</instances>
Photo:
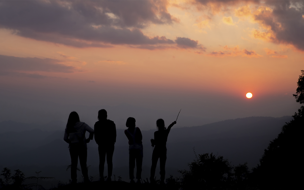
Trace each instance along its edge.
<instances>
[{"instance_id":1,"label":"tall black tree silhouette sloping up the right edge","mask_svg":"<svg viewBox=\"0 0 304 190\"><path fill-rule=\"evenodd\" d=\"M304 71L299 76L296 101L304 103ZM282 132L264 150L260 166L254 169L254 176L261 187L267 189L292 189L302 180L303 150L302 129L304 127L304 106L282 127Z\"/></svg>"}]
</instances>

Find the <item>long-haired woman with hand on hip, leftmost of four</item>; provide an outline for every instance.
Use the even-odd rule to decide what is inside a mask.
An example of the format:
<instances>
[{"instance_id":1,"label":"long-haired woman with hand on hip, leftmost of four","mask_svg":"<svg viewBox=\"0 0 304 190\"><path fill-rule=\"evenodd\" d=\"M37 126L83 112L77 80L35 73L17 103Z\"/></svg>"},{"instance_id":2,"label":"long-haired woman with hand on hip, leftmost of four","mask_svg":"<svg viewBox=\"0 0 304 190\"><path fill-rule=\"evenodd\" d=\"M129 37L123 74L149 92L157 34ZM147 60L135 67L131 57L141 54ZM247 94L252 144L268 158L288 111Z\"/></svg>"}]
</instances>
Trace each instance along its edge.
<instances>
[{"instance_id":1,"label":"long-haired woman with hand on hip, leftmost of four","mask_svg":"<svg viewBox=\"0 0 304 190\"><path fill-rule=\"evenodd\" d=\"M85 132L90 133L89 138L85 138ZM86 123L80 122L77 112L71 112L67 119L67 126L64 131L64 141L69 143L71 155L71 178L72 183L77 183L78 157L81 172L85 182L89 182L87 169L87 143L93 140L94 130Z\"/></svg>"}]
</instances>

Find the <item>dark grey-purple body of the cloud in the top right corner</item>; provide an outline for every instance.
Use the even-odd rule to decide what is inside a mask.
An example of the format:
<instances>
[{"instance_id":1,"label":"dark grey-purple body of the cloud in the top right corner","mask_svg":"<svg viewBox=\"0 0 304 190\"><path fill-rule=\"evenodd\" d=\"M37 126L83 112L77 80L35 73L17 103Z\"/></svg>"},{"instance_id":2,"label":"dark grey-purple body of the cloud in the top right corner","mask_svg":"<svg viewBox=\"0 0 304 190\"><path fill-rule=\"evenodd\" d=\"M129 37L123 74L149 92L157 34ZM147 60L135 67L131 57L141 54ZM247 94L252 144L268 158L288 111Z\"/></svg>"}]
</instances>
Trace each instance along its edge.
<instances>
[{"instance_id":1,"label":"dark grey-purple body of the cloud in the top right corner","mask_svg":"<svg viewBox=\"0 0 304 190\"><path fill-rule=\"evenodd\" d=\"M304 51L304 1L266 1L273 11L265 10L254 19L274 34L274 43L292 44ZM267 28L267 27L265 27Z\"/></svg>"}]
</instances>

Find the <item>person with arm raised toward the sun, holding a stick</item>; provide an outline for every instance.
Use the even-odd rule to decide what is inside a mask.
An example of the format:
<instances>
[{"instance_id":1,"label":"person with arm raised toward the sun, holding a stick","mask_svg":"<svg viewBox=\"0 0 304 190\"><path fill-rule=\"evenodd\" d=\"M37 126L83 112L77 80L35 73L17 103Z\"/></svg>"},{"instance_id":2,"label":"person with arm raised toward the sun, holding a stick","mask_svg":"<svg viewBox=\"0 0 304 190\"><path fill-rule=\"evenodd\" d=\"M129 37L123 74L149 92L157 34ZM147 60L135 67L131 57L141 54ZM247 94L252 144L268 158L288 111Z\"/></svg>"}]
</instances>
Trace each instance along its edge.
<instances>
[{"instance_id":1,"label":"person with arm raised toward the sun, holding a stick","mask_svg":"<svg viewBox=\"0 0 304 190\"><path fill-rule=\"evenodd\" d=\"M176 121L172 122L168 129L165 127L165 122L163 119L157 119L156 126L158 131L154 132L154 140L151 139L152 146L155 144L155 148L152 153L152 166L151 166L151 173L150 173L150 181L154 181L155 169L157 165L157 161L159 158L160 161L160 174L161 174L161 181L160 183L164 183L165 180L165 164L167 160L167 138L171 127L176 124Z\"/></svg>"}]
</instances>

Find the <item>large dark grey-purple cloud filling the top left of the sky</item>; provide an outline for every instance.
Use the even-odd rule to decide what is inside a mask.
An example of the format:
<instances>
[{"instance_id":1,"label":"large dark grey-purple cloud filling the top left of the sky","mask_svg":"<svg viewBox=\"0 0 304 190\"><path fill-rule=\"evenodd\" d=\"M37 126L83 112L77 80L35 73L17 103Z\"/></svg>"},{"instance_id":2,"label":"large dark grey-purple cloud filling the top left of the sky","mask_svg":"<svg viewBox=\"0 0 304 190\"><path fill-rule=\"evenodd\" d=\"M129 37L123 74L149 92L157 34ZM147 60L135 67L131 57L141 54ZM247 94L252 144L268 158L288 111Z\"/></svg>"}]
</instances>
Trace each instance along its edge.
<instances>
[{"instance_id":1,"label":"large dark grey-purple cloud filling the top left of the sky","mask_svg":"<svg viewBox=\"0 0 304 190\"><path fill-rule=\"evenodd\" d=\"M140 28L172 24L165 1L1 1L0 28L19 36L74 47L172 44ZM131 27L131 28L130 28Z\"/></svg>"}]
</instances>

